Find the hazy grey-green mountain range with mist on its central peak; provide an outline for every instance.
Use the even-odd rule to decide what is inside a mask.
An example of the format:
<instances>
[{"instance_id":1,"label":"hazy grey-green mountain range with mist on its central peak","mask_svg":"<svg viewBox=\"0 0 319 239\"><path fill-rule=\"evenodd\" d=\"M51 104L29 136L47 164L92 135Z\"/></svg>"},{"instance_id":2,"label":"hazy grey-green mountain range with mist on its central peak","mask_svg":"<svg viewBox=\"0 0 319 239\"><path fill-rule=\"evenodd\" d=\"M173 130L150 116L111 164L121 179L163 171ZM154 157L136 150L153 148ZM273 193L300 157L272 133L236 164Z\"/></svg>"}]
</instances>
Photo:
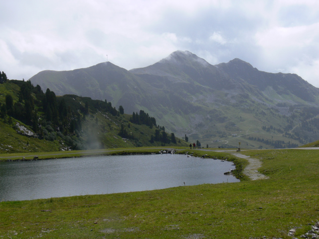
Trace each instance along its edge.
<instances>
[{"instance_id":1,"label":"hazy grey-green mountain range with mist on its central peak","mask_svg":"<svg viewBox=\"0 0 319 239\"><path fill-rule=\"evenodd\" d=\"M166 129L210 147L293 147L318 140L319 89L296 74L267 73L235 58L211 65L189 51L126 70L111 62L29 79L56 95L143 110Z\"/></svg>"}]
</instances>

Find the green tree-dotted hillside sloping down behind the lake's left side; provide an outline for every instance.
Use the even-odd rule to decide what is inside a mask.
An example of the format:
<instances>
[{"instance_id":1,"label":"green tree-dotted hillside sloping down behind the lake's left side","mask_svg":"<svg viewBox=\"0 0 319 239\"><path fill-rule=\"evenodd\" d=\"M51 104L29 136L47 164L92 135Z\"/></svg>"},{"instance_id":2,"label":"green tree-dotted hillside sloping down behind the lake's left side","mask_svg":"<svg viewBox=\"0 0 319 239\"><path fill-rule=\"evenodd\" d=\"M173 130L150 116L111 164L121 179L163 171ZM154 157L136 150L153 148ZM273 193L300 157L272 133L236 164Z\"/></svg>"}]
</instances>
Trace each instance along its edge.
<instances>
[{"instance_id":1,"label":"green tree-dotted hillside sloping down behind the lake's left side","mask_svg":"<svg viewBox=\"0 0 319 239\"><path fill-rule=\"evenodd\" d=\"M144 111L133 117L124 110L6 80L0 84L0 153L186 145Z\"/></svg>"}]
</instances>

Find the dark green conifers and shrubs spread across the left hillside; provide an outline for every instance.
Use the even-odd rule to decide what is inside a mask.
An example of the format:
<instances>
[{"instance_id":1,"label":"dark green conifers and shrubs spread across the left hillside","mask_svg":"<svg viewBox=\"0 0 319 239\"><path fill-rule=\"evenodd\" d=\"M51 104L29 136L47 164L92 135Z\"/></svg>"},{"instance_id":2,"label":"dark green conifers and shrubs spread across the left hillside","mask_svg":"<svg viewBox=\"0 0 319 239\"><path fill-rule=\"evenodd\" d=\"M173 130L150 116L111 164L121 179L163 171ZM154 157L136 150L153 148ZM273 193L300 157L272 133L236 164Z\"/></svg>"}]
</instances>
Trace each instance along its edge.
<instances>
[{"instance_id":1,"label":"dark green conifers and shrubs spread across the left hillside","mask_svg":"<svg viewBox=\"0 0 319 239\"><path fill-rule=\"evenodd\" d=\"M106 100L93 101L91 98L81 97L78 101L76 98L79 97L75 95L56 97L53 91L47 89L43 93L39 85L34 87L30 81L7 81L4 73L0 73L0 76L1 81L5 79L5 82L14 83L20 88L17 95L7 94L5 102L0 104L0 117L5 122L8 120L12 123L12 119L20 120L31 126L39 138L53 141L59 136L70 145L73 144L74 149L81 148L76 144L81 143L81 138L85 137L82 133L82 123L90 113L107 112L113 116L124 114L122 106L117 111L115 107L112 107L111 102ZM155 134L151 135L150 140L152 143L155 141L162 144L177 143L174 133L166 133L164 126L157 125L156 119L143 110L139 114L133 113L130 121L135 124L145 124L150 128L155 127ZM128 128L122 124L119 135L123 138L138 140L129 129L130 126L130 122Z\"/></svg>"}]
</instances>

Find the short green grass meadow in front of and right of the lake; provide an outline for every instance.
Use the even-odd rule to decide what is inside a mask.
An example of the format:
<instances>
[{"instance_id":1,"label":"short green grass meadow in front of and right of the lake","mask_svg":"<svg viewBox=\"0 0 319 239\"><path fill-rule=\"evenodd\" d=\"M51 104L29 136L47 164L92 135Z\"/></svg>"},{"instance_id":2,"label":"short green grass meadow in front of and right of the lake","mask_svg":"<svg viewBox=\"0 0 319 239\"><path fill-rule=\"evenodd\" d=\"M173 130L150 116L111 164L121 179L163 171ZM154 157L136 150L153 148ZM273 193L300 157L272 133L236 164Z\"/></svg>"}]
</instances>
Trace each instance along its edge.
<instances>
[{"instance_id":1,"label":"short green grass meadow in front of and right of the lake","mask_svg":"<svg viewBox=\"0 0 319 239\"><path fill-rule=\"evenodd\" d=\"M206 153L232 157L198 155ZM242 153L260 158L269 179L1 202L0 238L291 239L291 229L296 238L308 232L319 221L319 151Z\"/></svg>"}]
</instances>

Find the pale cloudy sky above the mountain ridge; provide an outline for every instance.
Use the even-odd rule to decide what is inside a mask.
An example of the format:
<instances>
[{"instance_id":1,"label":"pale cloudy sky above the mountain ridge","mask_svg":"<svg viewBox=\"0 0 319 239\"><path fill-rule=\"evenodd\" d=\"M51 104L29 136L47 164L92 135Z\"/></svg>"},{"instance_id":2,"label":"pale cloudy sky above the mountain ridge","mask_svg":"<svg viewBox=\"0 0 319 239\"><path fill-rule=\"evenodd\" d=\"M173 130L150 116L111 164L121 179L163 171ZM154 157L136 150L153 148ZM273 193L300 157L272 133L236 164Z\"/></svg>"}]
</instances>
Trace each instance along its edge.
<instances>
[{"instance_id":1,"label":"pale cloudy sky above the mountain ridge","mask_svg":"<svg viewBox=\"0 0 319 239\"><path fill-rule=\"evenodd\" d=\"M0 71L110 61L127 70L187 50L212 65L240 58L319 88L319 0L0 0Z\"/></svg>"}]
</instances>

